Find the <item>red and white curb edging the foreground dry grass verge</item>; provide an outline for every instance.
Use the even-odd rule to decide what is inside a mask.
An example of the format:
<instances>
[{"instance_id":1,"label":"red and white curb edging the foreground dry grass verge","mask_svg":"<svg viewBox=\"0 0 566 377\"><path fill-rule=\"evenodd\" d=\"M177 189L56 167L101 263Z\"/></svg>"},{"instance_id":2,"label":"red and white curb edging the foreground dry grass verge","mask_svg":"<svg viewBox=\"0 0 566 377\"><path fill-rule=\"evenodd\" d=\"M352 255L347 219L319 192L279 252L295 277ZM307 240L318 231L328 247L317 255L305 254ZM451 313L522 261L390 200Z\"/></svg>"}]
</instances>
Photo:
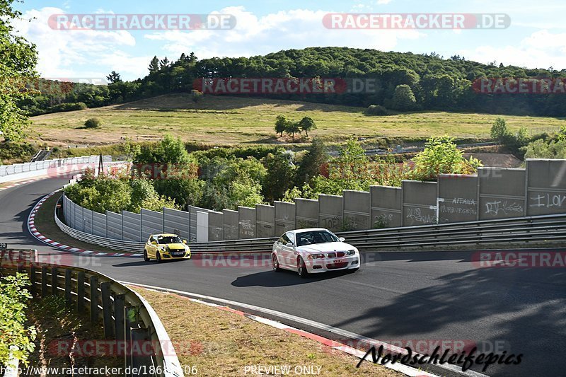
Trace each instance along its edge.
<instances>
[{"instance_id":1,"label":"red and white curb edging the foreground dry grass verge","mask_svg":"<svg viewBox=\"0 0 566 377\"><path fill-rule=\"evenodd\" d=\"M150 289L152 291L160 291L160 292L166 292L166 293L170 293L170 294L178 294L180 296L185 296L190 301L193 301L193 302L196 302L196 303L202 303L202 304L207 305L207 306L212 306L214 308L218 308L218 309L223 310L223 311L229 311L231 313L236 313L236 314L241 315L243 317L249 318L250 320L255 320L259 323L263 323L264 325L275 327L279 330L284 330L285 332L291 332L292 334L300 335L301 337L306 337L310 340L315 340L316 342L324 344L325 346L328 346L328 347L335 349L337 351L342 351L342 352L345 352L346 354L356 356L359 359L362 359L362 358L364 358L364 356L366 356L366 352L361 351L359 349L356 349L354 347L350 347L347 344L343 344L343 343L337 342L335 340L328 339L326 337L321 337L320 335L313 334L312 332L307 332L307 331L298 329L296 327L291 327L291 326L285 325L284 323L279 323L275 320L270 320L268 318L259 317L258 315L253 315L253 314L250 314L250 313L245 313L243 311L238 311L236 309L229 308L226 305L219 305L217 303L211 303L209 301L216 301L216 302L219 302L219 303L229 303L229 304L232 304L233 306L250 308L253 311L260 311L260 312L265 312L265 313L277 313L277 316L279 316L280 318L290 318L294 322L299 322L299 323L304 322L304 323L308 323L308 325L312 325L313 323L315 323L311 320L306 320L304 318L296 317L294 315L289 315L289 314L286 314L286 313L281 313L281 312L278 312L278 311L272 311L271 309L260 308L258 306L253 306L253 305L249 305L249 304L246 304L246 303L238 303L236 301L225 300L224 298L216 298L216 297L211 297L211 296L204 296L204 295L201 295L201 294L193 294L193 293L190 293L190 292L178 291L176 289L163 288L161 286L151 286L151 285L146 285L146 284L130 283L130 282L120 282L120 283L128 284L128 285L131 285L131 286L137 286L137 287L141 287L141 288L145 288L145 289ZM207 300L207 301L203 301L203 300ZM302 320L302 321L297 321L297 319ZM327 330L327 331L329 329L340 330L340 329L336 329L335 327L323 325L321 323L318 324L318 325L319 325L318 327L320 327L323 330ZM342 330L342 332L346 332L346 331ZM378 340L371 340L369 338L362 337L361 335L357 335L357 334L354 334L354 333L349 333L349 334L353 335L352 337L349 337L352 340L362 340L362 338L363 338L364 342L369 342L369 344L373 344L373 345L381 344L381 345L384 345L385 349L390 349L390 350L398 349L398 347L395 347L392 344L386 344L386 343L383 343L383 342L379 342ZM385 346L387 346L387 347L385 347ZM372 361L369 360L369 362L371 363ZM437 377L436 374L432 374L432 373L425 372L425 371L422 371L422 370L419 370L419 369L415 369L415 368L412 368L412 367L407 366L405 364L400 364L400 363L393 364L393 363L391 363L391 361L388 362L388 363L385 363L385 364L380 363L380 365L383 365L388 369L393 369L394 371L398 371L400 373L403 373L403 374L405 374L407 376L411 376L411 377ZM448 369L448 368L444 367L444 369ZM466 375L469 375L469 376L487 377L487 376L485 376L481 373L476 373L476 372L473 372L473 371L470 371L470 370L468 370L467 372L468 373L463 373L463 374L466 374Z\"/></svg>"}]
</instances>

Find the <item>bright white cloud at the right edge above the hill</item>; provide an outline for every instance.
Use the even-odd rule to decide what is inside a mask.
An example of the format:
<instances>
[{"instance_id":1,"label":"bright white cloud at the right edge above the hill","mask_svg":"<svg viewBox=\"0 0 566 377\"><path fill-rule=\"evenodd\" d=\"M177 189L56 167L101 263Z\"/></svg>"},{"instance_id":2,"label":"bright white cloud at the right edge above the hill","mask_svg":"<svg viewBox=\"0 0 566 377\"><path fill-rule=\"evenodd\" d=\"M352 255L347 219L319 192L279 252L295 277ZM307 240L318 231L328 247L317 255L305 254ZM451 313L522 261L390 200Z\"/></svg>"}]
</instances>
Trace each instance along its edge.
<instances>
[{"instance_id":1,"label":"bright white cloud at the right edge above the hill","mask_svg":"<svg viewBox=\"0 0 566 377\"><path fill-rule=\"evenodd\" d=\"M529 68L566 68L566 33L553 34L539 30L521 40L519 45L476 47L459 54L476 62L490 63L496 60L504 65Z\"/></svg>"}]
</instances>

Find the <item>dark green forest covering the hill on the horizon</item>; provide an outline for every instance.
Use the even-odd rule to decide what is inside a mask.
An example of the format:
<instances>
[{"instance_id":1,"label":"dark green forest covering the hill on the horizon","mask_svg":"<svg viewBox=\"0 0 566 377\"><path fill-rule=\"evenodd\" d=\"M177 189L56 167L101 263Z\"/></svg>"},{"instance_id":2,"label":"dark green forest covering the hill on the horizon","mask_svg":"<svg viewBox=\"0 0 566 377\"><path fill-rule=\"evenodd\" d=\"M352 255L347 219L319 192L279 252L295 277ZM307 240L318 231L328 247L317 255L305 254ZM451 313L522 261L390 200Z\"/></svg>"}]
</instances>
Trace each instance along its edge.
<instances>
[{"instance_id":1,"label":"dark green forest covering the hill on the horizon","mask_svg":"<svg viewBox=\"0 0 566 377\"><path fill-rule=\"evenodd\" d=\"M108 86L42 82L46 90L18 104L30 115L77 110L148 98L164 93L190 93L195 79L229 77L360 78L376 79L376 93L273 94L271 98L306 100L367 108L446 110L513 115L563 116L566 101L560 94L480 94L471 88L479 78L557 78L566 70L527 69L502 64L480 64L454 56L311 47L255 57L197 59L194 53L177 60L154 57L143 79L122 81L112 71ZM372 108L372 109L375 109Z\"/></svg>"}]
</instances>

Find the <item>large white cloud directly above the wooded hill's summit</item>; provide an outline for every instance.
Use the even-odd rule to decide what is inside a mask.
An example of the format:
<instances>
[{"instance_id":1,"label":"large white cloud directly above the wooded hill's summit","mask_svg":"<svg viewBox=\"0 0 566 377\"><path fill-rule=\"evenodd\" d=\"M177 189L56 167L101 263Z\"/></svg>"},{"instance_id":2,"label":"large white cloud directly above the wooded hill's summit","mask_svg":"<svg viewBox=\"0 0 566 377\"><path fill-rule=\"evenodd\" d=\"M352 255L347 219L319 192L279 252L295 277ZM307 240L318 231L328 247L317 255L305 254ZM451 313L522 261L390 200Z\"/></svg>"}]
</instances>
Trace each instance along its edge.
<instances>
[{"instance_id":1,"label":"large white cloud directly above the wooded hill's summit","mask_svg":"<svg viewBox=\"0 0 566 377\"><path fill-rule=\"evenodd\" d=\"M168 30L144 35L163 41L173 56L195 51L199 58L241 57L313 46L348 46L393 50L400 39L417 39L417 30L330 30L322 20L326 11L296 9L255 16L243 6L220 13L236 16L233 30Z\"/></svg>"}]
</instances>

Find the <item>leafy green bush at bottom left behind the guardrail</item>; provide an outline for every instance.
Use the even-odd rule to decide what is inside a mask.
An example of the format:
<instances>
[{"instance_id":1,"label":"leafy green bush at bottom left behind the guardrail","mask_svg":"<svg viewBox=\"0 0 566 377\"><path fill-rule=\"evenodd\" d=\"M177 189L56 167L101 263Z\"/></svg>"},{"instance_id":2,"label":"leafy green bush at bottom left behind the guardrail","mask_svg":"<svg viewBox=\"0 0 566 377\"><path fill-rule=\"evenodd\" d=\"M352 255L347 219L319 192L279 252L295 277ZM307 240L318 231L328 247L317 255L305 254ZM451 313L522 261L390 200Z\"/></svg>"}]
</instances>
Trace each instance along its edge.
<instances>
[{"instance_id":1,"label":"leafy green bush at bottom left behind the guardrail","mask_svg":"<svg viewBox=\"0 0 566 377\"><path fill-rule=\"evenodd\" d=\"M18 347L13 356L28 364L28 355L35 345L35 328L25 327L30 280L27 274L0 277L0 366L10 358L10 346Z\"/></svg>"}]
</instances>

